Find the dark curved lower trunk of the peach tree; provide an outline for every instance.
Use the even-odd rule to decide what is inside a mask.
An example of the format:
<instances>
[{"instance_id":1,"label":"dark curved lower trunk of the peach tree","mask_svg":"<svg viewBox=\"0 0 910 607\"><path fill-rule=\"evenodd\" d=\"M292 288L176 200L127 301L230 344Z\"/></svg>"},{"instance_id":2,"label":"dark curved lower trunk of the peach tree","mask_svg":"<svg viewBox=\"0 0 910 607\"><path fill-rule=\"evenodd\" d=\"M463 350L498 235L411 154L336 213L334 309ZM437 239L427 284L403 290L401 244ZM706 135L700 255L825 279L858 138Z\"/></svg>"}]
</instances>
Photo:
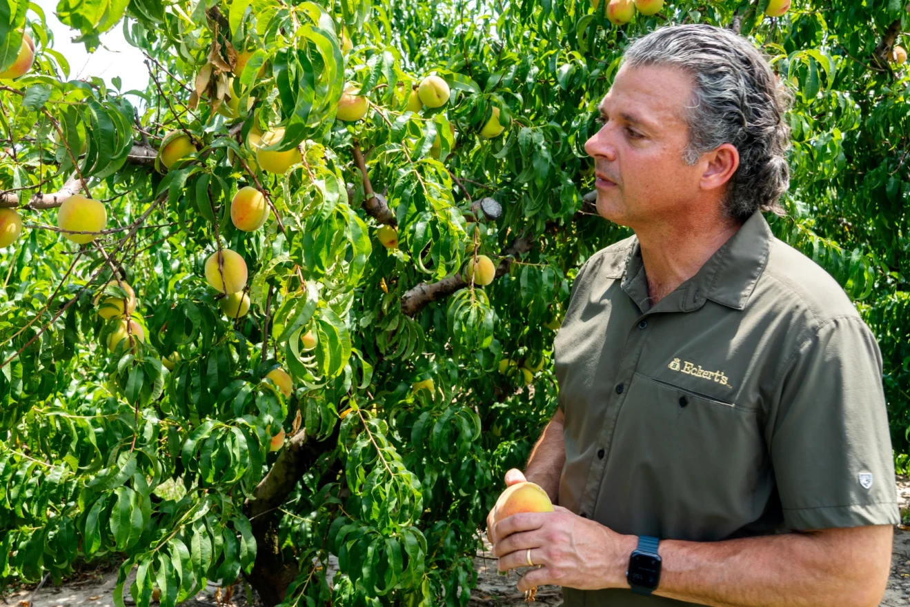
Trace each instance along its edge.
<instances>
[{"instance_id":1,"label":"dark curved lower trunk of the peach tree","mask_svg":"<svg viewBox=\"0 0 910 607\"><path fill-rule=\"evenodd\" d=\"M266 607L284 600L288 585L299 572L299 563L293 554L281 551L278 546L278 523L281 512L277 509L288 500L303 474L321 455L338 444L340 424L328 439L321 442L309 440L305 430L294 435L278 453L278 460L259 482L255 499L244 503L244 512L252 523L256 538L256 562L247 580L259 593Z\"/></svg>"}]
</instances>

